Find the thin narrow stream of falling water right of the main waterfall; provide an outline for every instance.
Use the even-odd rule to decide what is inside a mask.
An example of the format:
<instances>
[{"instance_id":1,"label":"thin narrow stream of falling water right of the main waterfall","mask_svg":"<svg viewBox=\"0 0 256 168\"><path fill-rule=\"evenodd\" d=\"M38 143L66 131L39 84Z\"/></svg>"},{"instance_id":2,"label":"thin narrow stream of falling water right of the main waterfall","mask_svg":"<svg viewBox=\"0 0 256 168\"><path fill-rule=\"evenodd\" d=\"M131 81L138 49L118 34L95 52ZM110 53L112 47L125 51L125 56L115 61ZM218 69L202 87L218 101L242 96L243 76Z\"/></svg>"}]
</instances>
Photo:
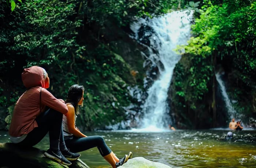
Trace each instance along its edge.
<instances>
[{"instance_id":1,"label":"thin narrow stream of falling water right of the main waterfall","mask_svg":"<svg viewBox=\"0 0 256 168\"><path fill-rule=\"evenodd\" d=\"M215 74L215 76L216 76L218 84L221 88L221 93L222 93L222 96L224 98L224 101L225 101L225 104L226 104L226 107L227 107L228 115L230 116L230 120L231 120L232 118L237 117L236 116L236 110L232 106L231 101L229 99L229 96L227 95L224 81L221 79L221 73L218 72L218 73Z\"/></svg>"}]
</instances>

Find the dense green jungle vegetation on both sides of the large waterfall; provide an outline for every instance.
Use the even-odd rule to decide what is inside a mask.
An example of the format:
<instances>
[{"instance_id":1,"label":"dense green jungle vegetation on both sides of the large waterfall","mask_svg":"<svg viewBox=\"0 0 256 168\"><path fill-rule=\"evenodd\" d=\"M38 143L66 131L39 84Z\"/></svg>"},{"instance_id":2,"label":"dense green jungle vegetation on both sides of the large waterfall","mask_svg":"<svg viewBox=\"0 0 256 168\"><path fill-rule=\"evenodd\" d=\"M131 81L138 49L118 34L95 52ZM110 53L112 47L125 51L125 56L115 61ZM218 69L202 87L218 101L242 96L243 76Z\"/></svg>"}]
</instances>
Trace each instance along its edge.
<instances>
[{"instance_id":1,"label":"dense green jungle vegetation on both sides of the large waterfall","mask_svg":"<svg viewBox=\"0 0 256 168\"><path fill-rule=\"evenodd\" d=\"M49 90L60 99L72 84L84 85L80 123L85 129L126 120L123 107L138 104L127 86L143 90L145 77L140 46L127 34L129 23L182 9L196 12L192 38L177 48L185 49L186 59L175 69L173 105L180 128L191 128L193 121L202 123L195 128L216 126L216 111L205 109L218 64L230 74L228 91L236 109L255 115L253 0L0 0L0 129L8 129L15 102L25 91L20 75L32 65L46 69Z\"/></svg>"}]
</instances>

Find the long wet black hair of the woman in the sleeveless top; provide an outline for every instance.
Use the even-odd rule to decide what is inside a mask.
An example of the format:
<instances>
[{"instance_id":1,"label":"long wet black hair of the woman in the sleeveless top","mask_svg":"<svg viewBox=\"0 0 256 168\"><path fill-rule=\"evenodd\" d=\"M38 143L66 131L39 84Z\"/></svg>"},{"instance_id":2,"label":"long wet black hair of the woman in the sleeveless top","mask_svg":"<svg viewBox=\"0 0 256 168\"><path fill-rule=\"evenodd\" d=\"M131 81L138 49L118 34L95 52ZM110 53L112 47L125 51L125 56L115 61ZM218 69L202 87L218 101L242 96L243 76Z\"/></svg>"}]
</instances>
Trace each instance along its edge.
<instances>
[{"instance_id":1,"label":"long wet black hair of the woman in the sleeveless top","mask_svg":"<svg viewBox=\"0 0 256 168\"><path fill-rule=\"evenodd\" d=\"M68 89L68 96L67 96L67 100L65 100L65 103L70 103L74 106L76 115L79 114L78 103L82 99L83 91L84 91L83 85L78 85L78 84L72 85Z\"/></svg>"}]
</instances>

